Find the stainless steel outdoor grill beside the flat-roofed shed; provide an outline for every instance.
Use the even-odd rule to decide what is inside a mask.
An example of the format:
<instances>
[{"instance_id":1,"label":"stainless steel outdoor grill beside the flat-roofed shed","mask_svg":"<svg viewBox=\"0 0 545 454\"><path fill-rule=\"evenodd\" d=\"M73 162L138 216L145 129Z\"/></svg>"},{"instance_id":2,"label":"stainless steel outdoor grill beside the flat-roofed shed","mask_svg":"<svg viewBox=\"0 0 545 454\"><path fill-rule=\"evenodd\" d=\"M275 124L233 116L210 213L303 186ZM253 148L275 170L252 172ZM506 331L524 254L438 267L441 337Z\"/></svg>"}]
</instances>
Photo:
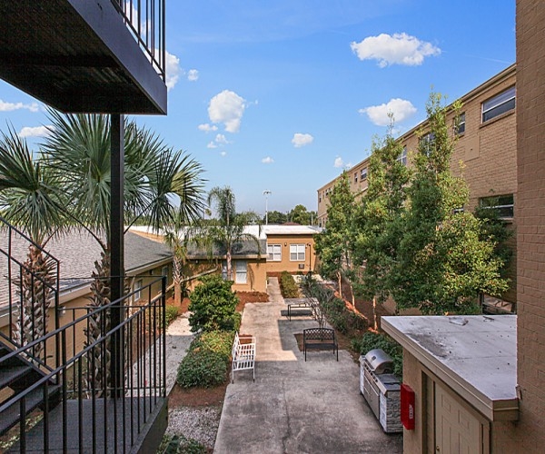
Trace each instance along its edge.
<instances>
[{"instance_id":1,"label":"stainless steel outdoor grill beside the flat-roofed shed","mask_svg":"<svg viewBox=\"0 0 545 454\"><path fill-rule=\"evenodd\" d=\"M401 432L400 380L393 375L393 361L381 349L360 356L360 391L385 432Z\"/></svg>"}]
</instances>

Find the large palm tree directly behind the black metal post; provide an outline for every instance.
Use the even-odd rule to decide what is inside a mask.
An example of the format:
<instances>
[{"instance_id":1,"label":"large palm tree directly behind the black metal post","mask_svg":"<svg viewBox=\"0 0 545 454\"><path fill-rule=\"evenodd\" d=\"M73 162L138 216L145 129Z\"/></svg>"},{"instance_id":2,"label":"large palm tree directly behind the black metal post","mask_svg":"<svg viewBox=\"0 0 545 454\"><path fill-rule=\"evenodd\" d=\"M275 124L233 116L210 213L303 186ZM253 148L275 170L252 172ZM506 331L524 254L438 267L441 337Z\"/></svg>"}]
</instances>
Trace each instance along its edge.
<instances>
[{"instance_id":1,"label":"large palm tree directly behind the black metal post","mask_svg":"<svg viewBox=\"0 0 545 454\"><path fill-rule=\"evenodd\" d=\"M89 230L102 252L94 262L91 310L111 300L110 278L110 123L106 115L59 114L49 111L54 125L44 144L54 172L64 185L70 209L84 228ZM182 151L166 147L154 133L127 123L124 129L124 212L131 225L145 215L155 230L163 222L172 222L174 212L188 218L202 211L202 168ZM176 208L175 202L179 202ZM87 330L87 342L99 340L108 331L104 312L96 312ZM93 380L97 389L107 380L107 348L95 352Z\"/></svg>"}]
</instances>

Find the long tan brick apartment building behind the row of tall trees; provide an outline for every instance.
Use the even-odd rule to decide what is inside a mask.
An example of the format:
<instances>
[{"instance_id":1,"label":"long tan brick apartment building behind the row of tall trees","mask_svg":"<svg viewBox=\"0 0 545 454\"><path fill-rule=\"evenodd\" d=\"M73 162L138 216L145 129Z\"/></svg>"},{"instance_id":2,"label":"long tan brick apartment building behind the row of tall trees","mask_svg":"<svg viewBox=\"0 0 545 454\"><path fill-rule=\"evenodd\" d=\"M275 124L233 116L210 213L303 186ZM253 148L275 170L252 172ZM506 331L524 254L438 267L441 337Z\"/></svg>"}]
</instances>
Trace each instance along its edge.
<instances>
[{"instance_id":1,"label":"long tan brick apartment building behind the row of tall trees","mask_svg":"<svg viewBox=\"0 0 545 454\"><path fill-rule=\"evenodd\" d=\"M473 211L478 204L499 206L501 217L516 227L515 204L517 202L517 117L516 117L516 64L511 64L500 74L479 85L460 98L462 103L461 121L454 131L454 114L448 117L453 125L452 133L458 135L451 159L451 171L455 175L463 173L470 189L470 202L464 210ZM398 141L403 145L400 160L411 165L411 155L416 153L421 131L426 131L422 122ZM421 137L426 140L426 135ZM463 169L461 170L461 163ZM369 158L357 163L348 173L352 192L363 194L367 190ZM338 177L340 178L340 177ZM338 178L323 185L318 190L318 225L325 226L329 194ZM516 241L510 244L516 257ZM513 260L508 276L510 291L502 295L503 301L486 298L491 310L515 311L516 261Z\"/></svg>"}]
</instances>

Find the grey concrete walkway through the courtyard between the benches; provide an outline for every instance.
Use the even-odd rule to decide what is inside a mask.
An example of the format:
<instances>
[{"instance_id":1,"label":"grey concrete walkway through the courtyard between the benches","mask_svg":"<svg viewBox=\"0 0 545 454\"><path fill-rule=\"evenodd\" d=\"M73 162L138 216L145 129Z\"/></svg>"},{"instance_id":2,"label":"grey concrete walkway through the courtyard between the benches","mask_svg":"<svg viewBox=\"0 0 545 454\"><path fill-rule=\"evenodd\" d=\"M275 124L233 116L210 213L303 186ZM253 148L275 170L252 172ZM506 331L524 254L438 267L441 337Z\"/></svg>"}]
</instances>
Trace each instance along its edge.
<instances>
[{"instance_id":1,"label":"grey concrete walkway through the courtyard between the benches","mask_svg":"<svg viewBox=\"0 0 545 454\"><path fill-rule=\"evenodd\" d=\"M242 333L256 336L252 371L238 371L223 402L214 453L398 453L360 394L360 366L339 351L310 351L304 361L295 333L316 327L310 317L288 321L271 278L267 303L246 304Z\"/></svg>"}]
</instances>

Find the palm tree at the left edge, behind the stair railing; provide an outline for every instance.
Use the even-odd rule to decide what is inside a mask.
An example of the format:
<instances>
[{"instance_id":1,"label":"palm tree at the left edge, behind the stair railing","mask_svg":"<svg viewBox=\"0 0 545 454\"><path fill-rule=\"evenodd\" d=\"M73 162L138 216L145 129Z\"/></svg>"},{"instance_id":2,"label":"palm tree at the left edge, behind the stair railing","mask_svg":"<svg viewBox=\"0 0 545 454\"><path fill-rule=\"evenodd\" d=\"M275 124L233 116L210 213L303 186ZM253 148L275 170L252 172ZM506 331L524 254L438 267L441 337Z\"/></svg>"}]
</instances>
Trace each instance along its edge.
<instances>
[{"instance_id":1,"label":"palm tree at the left edge, behind the stair railing","mask_svg":"<svg viewBox=\"0 0 545 454\"><path fill-rule=\"evenodd\" d=\"M63 192L44 156L35 158L25 140L13 129L0 139L0 211L7 222L32 241L22 272L15 280L21 299L14 341L23 346L47 333L49 308L56 288L56 266L43 252L46 243L64 224ZM33 349L39 358L42 344Z\"/></svg>"}]
</instances>

